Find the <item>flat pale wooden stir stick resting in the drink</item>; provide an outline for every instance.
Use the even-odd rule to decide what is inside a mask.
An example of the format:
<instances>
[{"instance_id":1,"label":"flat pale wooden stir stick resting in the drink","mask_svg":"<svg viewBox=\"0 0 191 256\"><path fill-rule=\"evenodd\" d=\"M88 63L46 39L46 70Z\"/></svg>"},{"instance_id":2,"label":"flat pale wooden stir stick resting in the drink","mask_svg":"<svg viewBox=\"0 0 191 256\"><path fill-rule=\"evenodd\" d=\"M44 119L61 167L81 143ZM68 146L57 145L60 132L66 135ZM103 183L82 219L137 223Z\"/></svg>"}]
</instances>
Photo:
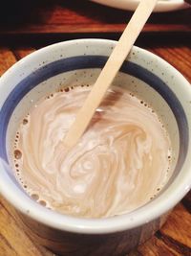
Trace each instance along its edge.
<instances>
[{"instance_id":1,"label":"flat pale wooden stir stick resting in the drink","mask_svg":"<svg viewBox=\"0 0 191 256\"><path fill-rule=\"evenodd\" d=\"M64 145L71 149L88 127L98 105L100 105L108 87L114 81L117 72L140 34L144 24L155 8L158 0L141 0L136 12L120 36L115 49L108 58L96 83L84 105L79 109L74 124L64 138Z\"/></svg>"}]
</instances>

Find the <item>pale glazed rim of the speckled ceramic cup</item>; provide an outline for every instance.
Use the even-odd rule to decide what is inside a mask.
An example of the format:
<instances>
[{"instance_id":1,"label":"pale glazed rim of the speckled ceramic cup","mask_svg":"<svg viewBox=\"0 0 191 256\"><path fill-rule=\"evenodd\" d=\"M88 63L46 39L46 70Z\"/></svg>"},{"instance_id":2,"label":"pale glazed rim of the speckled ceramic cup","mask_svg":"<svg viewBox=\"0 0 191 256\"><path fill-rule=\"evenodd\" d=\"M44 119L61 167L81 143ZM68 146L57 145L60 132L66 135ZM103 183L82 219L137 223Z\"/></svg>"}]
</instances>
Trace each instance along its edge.
<instances>
[{"instance_id":1,"label":"pale glazed rim of the speckled ceramic cup","mask_svg":"<svg viewBox=\"0 0 191 256\"><path fill-rule=\"evenodd\" d=\"M22 66L20 64L23 64L26 61L29 62L32 60L32 58L38 58L39 54L41 53L49 54L50 50L64 46L73 47L73 45L75 45L76 43L93 43L96 46L96 44L98 45L100 43L106 45L110 43L115 44L116 41L108 39L87 38L54 43L52 45L39 49L33 52L32 54L28 55L27 57L22 58L21 60L16 62L1 77L0 83L1 81L10 79L10 70L16 71L17 69L20 69ZM158 58L159 62L162 65L170 67L170 69L173 70L173 72L175 72L176 76L178 76L182 81L182 84L189 84L189 82L183 78L183 76L180 74L178 70L176 70L173 66L171 66L162 58L159 58L158 56L150 53L149 51L141 49L137 46L134 46L134 48L137 49L140 54ZM189 95L191 96L191 89L189 90ZM190 133L191 131L189 128L189 134ZM189 148L191 148L191 142L189 142ZM188 161L187 158L188 155L186 156L185 161ZM3 169L5 170L6 168L6 165L2 161L0 161L0 170L2 171ZM185 167L183 166L182 169L184 170ZM185 194L190 190L190 188L191 165L188 168L187 163L186 171L181 171L180 174L172 182L172 184L159 196L159 198L155 198L154 200L150 201L148 204L143 205L134 212L106 219L85 219L62 215L57 212L46 209L45 207L32 201L32 199L29 196L22 192L19 189L19 187L13 183L10 176L6 172L0 172L0 193L22 214L31 217L34 221L38 221L40 223L43 223L58 230L83 234L114 233L136 228L140 225L156 220L161 215L170 211L180 201L180 199L185 196Z\"/></svg>"}]
</instances>

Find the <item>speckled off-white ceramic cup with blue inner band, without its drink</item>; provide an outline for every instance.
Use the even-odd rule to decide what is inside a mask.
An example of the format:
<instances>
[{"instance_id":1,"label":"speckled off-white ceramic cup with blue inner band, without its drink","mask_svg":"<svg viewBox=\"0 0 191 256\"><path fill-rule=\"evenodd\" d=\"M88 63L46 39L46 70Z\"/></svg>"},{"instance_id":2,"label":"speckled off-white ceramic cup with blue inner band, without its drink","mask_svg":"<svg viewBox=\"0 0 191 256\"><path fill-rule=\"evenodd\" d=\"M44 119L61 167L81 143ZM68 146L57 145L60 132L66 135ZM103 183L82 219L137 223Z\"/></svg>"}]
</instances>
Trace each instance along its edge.
<instances>
[{"instance_id":1,"label":"speckled off-white ceramic cup with blue inner band, without its drink","mask_svg":"<svg viewBox=\"0 0 191 256\"><path fill-rule=\"evenodd\" d=\"M166 61L138 47L114 84L152 105L169 132L174 172L158 197L123 216L77 219L34 202L12 175L14 133L29 108L60 87L93 84L115 44L102 39L54 44L21 59L0 79L0 192L18 210L27 232L60 255L123 255L159 229L191 186L190 84Z\"/></svg>"}]
</instances>

